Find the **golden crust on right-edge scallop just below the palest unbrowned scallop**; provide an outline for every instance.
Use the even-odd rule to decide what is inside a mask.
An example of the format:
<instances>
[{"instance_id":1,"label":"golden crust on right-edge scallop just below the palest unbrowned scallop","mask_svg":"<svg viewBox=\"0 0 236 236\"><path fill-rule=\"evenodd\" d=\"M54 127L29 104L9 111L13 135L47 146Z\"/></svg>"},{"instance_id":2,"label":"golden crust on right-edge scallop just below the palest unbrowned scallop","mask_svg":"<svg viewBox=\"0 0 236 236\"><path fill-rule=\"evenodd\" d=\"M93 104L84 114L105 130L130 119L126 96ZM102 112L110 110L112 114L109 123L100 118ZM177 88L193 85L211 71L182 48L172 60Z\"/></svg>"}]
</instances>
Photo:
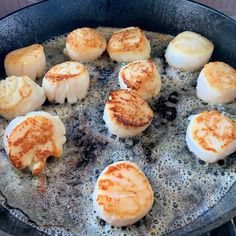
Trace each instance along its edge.
<instances>
[{"instance_id":1,"label":"golden crust on right-edge scallop just below the palest unbrowned scallop","mask_svg":"<svg viewBox=\"0 0 236 236\"><path fill-rule=\"evenodd\" d=\"M210 62L203 73L208 83L217 90L236 89L236 70L224 62Z\"/></svg>"}]
</instances>

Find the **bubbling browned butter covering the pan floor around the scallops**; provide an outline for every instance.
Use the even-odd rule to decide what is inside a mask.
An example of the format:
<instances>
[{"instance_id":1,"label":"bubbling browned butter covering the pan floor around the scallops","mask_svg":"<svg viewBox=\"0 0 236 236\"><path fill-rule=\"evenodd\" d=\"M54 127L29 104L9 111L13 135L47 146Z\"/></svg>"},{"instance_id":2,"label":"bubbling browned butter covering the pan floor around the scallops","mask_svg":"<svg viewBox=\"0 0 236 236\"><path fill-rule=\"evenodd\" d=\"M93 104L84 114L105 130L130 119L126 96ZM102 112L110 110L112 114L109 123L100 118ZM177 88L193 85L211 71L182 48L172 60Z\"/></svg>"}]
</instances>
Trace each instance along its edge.
<instances>
[{"instance_id":1,"label":"bubbling browned butter covering the pan floor around the scallops","mask_svg":"<svg viewBox=\"0 0 236 236\"><path fill-rule=\"evenodd\" d=\"M99 28L108 38L112 28ZM177 230L217 204L236 180L235 155L207 165L191 154L185 143L188 117L217 109L235 119L236 105L209 106L196 96L199 74L180 72L164 61L173 38L146 32L151 57L162 78L161 93L149 100L154 111L150 127L140 136L118 139L102 119L110 91L118 89L117 75L124 65L108 55L86 63L91 85L87 97L75 105L46 103L42 110L57 114L66 125L63 156L49 158L39 177L11 166L0 143L0 203L12 214L44 232L78 235L162 235ZM66 61L65 35L44 43L47 69ZM215 49L217 50L217 48ZM41 85L41 80L38 81ZM7 122L0 119L3 137ZM129 160L145 173L155 193L150 213L133 226L116 228L100 220L92 193L101 171L109 164Z\"/></svg>"}]
</instances>

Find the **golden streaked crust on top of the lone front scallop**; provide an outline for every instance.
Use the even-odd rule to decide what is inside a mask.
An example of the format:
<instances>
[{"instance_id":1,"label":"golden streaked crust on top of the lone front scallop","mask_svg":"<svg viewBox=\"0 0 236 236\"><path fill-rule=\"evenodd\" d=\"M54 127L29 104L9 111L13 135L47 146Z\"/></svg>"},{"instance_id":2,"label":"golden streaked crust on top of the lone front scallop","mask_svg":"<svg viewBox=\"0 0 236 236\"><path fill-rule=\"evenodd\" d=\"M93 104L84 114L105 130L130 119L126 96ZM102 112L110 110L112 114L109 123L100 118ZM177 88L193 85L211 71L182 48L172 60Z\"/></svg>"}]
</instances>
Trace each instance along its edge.
<instances>
[{"instance_id":1,"label":"golden streaked crust on top of the lone front scallop","mask_svg":"<svg viewBox=\"0 0 236 236\"><path fill-rule=\"evenodd\" d=\"M122 172L132 173L133 178L122 175ZM137 185L138 183L142 188ZM98 205L103 208L105 214L120 219L137 216L153 203L153 192L148 180L139 168L129 162L109 166L98 180L98 189L104 192L97 196ZM120 198L119 195L123 197ZM127 204L133 207L127 207Z\"/></svg>"}]
</instances>

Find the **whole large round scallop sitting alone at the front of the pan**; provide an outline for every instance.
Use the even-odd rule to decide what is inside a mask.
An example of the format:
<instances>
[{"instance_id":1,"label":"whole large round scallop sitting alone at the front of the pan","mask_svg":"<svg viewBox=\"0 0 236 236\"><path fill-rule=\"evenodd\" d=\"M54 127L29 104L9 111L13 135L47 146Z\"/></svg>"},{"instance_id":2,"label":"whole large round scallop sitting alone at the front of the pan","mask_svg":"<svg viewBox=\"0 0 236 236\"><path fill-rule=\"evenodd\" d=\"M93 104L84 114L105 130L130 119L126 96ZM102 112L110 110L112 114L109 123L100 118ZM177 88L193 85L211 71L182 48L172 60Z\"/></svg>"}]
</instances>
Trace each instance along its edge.
<instances>
[{"instance_id":1,"label":"whole large round scallop sitting alone at the front of the pan","mask_svg":"<svg viewBox=\"0 0 236 236\"><path fill-rule=\"evenodd\" d=\"M139 167L129 161L115 162L99 176L94 208L100 218L114 226L132 225L152 208L152 187Z\"/></svg>"}]
</instances>

